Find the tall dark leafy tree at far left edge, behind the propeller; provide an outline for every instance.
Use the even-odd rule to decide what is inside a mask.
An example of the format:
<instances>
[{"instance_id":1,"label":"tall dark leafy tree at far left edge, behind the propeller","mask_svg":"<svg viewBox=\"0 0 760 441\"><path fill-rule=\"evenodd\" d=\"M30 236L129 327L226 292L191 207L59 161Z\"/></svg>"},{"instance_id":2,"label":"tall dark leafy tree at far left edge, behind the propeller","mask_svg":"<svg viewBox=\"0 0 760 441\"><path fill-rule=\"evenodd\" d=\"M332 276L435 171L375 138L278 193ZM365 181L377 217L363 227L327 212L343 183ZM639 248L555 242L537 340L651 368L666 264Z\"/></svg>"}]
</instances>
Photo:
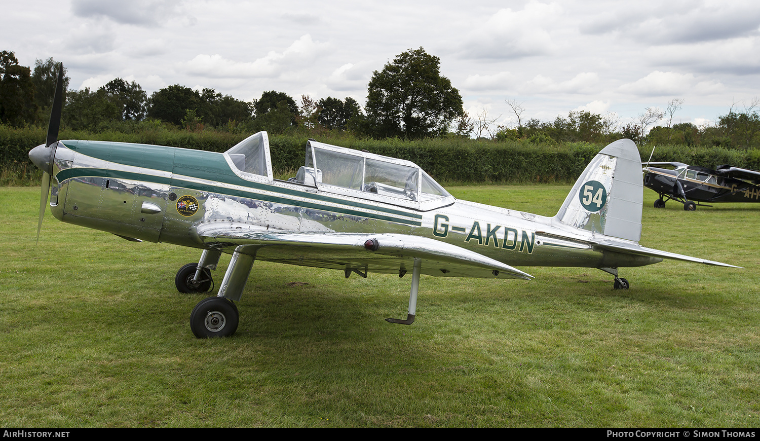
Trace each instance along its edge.
<instances>
[{"instance_id":1,"label":"tall dark leafy tree at far left edge, behind the propeller","mask_svg":"<svg viewBox=\"0 0 760 441\"><path fill-rule=\"evenodd\" d=\"M18 127L33 122L36 110L30 68L14 52L0 51L0 122Z\"/></svg>"}]
</instances>

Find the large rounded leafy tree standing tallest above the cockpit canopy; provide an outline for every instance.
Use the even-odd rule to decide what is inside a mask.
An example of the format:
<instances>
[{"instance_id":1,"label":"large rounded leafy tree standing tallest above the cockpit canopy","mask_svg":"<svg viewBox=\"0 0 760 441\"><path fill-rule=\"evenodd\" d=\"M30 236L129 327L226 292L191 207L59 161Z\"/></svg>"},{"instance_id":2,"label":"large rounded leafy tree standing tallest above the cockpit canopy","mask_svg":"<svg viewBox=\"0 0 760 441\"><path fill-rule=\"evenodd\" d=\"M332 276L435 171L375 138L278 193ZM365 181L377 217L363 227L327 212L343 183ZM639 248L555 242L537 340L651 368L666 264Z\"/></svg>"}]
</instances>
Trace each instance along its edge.
<instances>
[{"instance_id":1,"label":"large rounded leafy tree standing tallest above the cockpit canopy","mask_svg":"<svg viewBox=\"0 0 760 441\"><path fill-rule=\"evenodd\" d=\"M438 57L420 47L373 72L366 113L375 138L439 136L464 116L459 90L441 76L439 65Z\"/></svg>"}]
</instances>

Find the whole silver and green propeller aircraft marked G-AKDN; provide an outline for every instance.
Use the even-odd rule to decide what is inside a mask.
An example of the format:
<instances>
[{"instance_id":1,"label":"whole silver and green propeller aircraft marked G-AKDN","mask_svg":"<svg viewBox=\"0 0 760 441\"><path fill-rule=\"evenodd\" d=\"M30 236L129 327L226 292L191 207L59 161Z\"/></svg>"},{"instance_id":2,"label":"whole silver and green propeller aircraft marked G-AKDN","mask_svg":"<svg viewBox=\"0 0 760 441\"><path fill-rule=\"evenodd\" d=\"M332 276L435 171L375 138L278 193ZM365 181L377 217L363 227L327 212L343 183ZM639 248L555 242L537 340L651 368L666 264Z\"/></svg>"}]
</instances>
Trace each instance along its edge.
<instances>
[{"instance_id":1,"label":"whole silver and green propeller aircraft marked G-AKDN","mask_svg":"<svg viewBox=\"0 0 760 441\"><path fill-rule=\"evenodd\" d=\"M599 268L627 289L618 268L676 259L720 262L649 249L641 236L641 158L633 141L603 148L575 182L556 216L460 201L416 164L309 140L294 178L273 179L266 132L225 153L106 141L56 141L59 87L46 144L30 151L45 173L59 220L126 240L174 243L201 251L176 274L181 292L211 289L211 270L232 255L216 297L190 317L198 338L232 335L255 259L370 272L411 271L407 319L416 313L420 274L520 278L515 266ZM733 267L739 268L739 267Z\"/></svg>"}]
</instances>

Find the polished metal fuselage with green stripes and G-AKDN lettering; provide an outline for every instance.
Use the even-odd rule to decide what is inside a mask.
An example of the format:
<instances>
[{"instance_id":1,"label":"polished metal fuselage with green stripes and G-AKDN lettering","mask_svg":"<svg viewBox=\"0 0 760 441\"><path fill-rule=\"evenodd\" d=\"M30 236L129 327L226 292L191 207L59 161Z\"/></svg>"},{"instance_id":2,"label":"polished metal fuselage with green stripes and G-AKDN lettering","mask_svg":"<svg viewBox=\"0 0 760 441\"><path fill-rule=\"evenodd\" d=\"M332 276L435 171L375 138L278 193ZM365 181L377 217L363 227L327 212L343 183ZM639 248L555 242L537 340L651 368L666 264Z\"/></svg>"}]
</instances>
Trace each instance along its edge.
<instances>
[{"instance_id":1,"label":"polished metal fuselage with green stripes and G-AKDN lettering","mask_svg":"<svg viewBox=\"0 0 760 441\"><path fill-rule=\"evenodd\" d=\"M554 217L454 198L442 198L441 206L420 211L373 200L372 193L360 198L297 182L250 181L236 174L223 154L207 151L61 141L54 175L50 205L55 217L132 240L231 253L235 243L198 233L229 225L243 230L424 236L513 266L617 268L660 261L594 249L603 235L568 227ZM256 259L340 268L329 258L299 259L293 253L261 252Z\"/></svg>"}]
</instances>

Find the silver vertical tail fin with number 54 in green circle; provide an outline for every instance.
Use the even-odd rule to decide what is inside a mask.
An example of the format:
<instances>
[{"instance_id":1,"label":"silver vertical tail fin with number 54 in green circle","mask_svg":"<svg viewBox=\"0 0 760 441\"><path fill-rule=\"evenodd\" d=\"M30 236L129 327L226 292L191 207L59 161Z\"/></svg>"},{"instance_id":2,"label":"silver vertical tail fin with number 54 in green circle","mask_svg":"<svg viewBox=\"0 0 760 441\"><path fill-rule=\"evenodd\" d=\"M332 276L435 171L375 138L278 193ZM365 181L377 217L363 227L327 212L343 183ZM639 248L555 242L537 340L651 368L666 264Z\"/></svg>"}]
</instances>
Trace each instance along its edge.
<instances>
[{"instance_id":1,"label":"silver vertical tail fin with number 54 in green circle","mask_svg":"<svg viewBox=\"0 0 760 441\"><path fill-rule=\"evenodd\" d=\"M607 145L581 173L556 220L621 239L641 239L641 156L630 139Z\"/></svg>"}]
</instances>

